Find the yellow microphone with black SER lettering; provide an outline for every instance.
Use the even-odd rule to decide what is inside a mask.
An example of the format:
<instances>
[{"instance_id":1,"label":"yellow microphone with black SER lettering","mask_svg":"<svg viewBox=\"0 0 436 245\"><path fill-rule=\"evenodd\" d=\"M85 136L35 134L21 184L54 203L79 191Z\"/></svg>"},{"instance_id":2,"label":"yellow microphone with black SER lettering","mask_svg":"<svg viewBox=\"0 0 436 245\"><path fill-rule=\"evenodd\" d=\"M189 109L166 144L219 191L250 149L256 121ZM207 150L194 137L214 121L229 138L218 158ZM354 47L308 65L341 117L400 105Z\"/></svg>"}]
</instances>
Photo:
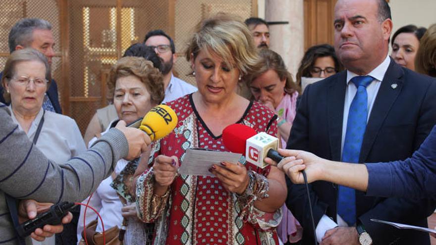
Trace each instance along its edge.
<instances>
[{"instance_id":1,"label":"yellow microphone with black SER lettering","mask_svg":"<svg viewBox=\"0 0 436 245\"><path fill-rule=\"evenodd\" d=\"M133 122L128 127L139 128L146 132L152 141L167 136L177 125L177 114L168 105L160 104L153 107L142 119Z\"/></svg>"}]
</instances>

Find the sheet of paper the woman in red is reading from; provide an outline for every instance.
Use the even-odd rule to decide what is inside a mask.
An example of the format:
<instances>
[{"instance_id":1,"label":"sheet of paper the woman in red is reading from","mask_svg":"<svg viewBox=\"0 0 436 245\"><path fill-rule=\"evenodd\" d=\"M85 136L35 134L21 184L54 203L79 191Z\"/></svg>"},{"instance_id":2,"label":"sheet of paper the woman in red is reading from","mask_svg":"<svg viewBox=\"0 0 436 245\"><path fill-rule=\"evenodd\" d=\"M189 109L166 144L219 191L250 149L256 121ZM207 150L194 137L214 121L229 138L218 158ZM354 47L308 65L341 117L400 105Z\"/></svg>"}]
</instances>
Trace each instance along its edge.
<instances>
[{"instance_id":1,"label":"sheet of paper the woman in red is reading from","mask_svg":"<svg viewBox=\"0 0 436 245\"><path fill-rule=\"evenodd\" d=\"M189 148L186 150L178 172L186 175L214 176L209 172L213 164L220 162L236 164L241 156L242 154L232 152Z\"/></svg>"}]
</instances>

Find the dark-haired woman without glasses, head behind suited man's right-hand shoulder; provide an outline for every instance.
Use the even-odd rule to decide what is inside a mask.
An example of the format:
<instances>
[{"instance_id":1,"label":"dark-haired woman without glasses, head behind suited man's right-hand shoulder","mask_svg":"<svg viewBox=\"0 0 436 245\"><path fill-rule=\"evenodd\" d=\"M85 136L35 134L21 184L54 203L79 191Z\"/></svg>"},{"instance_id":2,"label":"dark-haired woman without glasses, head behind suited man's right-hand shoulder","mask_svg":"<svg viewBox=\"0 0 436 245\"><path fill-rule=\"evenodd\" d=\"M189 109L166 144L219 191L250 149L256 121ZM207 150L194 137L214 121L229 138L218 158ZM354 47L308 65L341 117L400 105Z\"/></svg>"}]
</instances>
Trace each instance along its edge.
<instances>
[{"instance_id":1,"label":"dark-haired woman without glasses, head behind suited man's right-hand shoulder","mask_svg":"<svg viewBox=\"0 0 436 245\"><path fill-rule=\"evenodd\" d=\"M426 32L424 27L407 25L399 28L392 36L390 54L395 62L403 67L415 70L415 56L419 49L419 41Z\"/></svg>"}]
</instances>

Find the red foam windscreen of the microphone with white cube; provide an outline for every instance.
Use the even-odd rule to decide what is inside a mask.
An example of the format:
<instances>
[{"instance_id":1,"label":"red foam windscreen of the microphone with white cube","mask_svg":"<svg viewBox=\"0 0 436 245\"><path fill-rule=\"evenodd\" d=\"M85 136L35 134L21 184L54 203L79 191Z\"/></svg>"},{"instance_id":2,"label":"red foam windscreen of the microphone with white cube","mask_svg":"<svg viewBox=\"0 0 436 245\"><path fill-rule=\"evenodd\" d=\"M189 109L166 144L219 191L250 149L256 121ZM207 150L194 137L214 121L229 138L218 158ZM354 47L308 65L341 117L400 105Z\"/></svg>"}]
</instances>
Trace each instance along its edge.
<instances>
[{"instance_id":1,"label":"red foam windscreen of the microphone with white cube","mask_svg":"<svg viewBox=\"0 0 436 245\"><path fill-rule=\"evenodd\" d=\"M247 125L231 124L222 130L222 144L231 152L245 155L247 139L256 134L256 130Z\"/></svg>"}]
</instances>

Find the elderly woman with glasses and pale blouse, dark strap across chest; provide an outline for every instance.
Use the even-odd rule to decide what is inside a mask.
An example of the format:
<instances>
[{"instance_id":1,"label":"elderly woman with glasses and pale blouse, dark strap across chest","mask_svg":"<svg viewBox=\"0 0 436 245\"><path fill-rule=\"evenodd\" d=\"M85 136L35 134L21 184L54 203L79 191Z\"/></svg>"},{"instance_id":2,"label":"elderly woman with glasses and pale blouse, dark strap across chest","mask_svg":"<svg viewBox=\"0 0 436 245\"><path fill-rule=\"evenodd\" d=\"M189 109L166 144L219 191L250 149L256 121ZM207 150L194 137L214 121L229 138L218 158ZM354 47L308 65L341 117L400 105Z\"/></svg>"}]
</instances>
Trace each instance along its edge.
<instances>
[{"instance_id":1,"label":"elderly woman with glasses and pale blouse, dark strap across chest","mask_svg":"<svg viewBox=\"0 0 436 245\"><path fill-rule=\"evenodd\" d=\"M1 83L11 117L34 145L54 163L63 163L86 150L79 127L67 116L42 108L51 75L47 58L35 49L11 53ZM54 239L44 244L54 244Z\"/></svg>"}]
</instances>

